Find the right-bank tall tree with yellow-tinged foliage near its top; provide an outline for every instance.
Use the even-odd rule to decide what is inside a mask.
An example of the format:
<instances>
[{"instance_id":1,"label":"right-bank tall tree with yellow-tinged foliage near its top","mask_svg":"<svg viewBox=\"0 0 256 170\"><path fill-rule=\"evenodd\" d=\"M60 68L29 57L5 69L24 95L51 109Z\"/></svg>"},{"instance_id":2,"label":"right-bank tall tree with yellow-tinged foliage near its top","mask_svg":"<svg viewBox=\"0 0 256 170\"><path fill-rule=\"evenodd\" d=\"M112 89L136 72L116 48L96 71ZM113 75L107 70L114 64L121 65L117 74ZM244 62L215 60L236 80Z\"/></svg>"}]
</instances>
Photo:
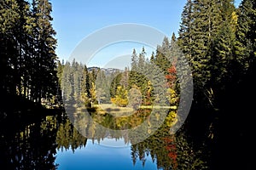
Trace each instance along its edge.
<instances>
[{"instance_id":1,"label":"right-bank tall tree with yellow-tinged foliage near its top","mask_svg":"<svg viewBox=\"0 0 256 170\"><path fill-rule=\"evenodd\" d=\"M218 36L212 40L212 88L221 91L230 84L234 71L237 15L232 1L224 1L221 6L222 23L218 29Z\"/></svg>"}]
</instances>

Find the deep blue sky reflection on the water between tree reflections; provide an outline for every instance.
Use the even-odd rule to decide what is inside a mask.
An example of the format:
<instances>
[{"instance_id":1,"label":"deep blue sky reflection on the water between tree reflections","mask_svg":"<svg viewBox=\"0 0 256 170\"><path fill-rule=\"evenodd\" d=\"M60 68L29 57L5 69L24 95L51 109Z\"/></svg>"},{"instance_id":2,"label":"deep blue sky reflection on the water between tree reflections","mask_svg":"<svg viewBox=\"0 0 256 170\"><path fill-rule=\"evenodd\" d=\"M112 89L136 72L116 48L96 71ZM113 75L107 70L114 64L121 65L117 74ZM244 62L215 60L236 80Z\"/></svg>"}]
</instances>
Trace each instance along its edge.
<instances>
[{"instance_id":1,"label":"deep blue sky reflection on the water between tree reflections","mask_svg":"<svg viewBox=\"0 0 256 170\"><path fill-rule=\"evenodd\" d=\"M110 140L108 139L108 142ZM112 142L114 142L112 140ZM118 141L119 143L120 141ZM111 144L113 145L113 144ZM143 167L143 162L137 159L135 166L132 164L131 148L113 148L101 144L92 144L91 139L87 140L85 147L74 151L57 150L55 163L59 164L58 169L145 169L155 170L156 162L153 162L151 156L146 157L147 161Z\"/></svg>"}]
</instances>

